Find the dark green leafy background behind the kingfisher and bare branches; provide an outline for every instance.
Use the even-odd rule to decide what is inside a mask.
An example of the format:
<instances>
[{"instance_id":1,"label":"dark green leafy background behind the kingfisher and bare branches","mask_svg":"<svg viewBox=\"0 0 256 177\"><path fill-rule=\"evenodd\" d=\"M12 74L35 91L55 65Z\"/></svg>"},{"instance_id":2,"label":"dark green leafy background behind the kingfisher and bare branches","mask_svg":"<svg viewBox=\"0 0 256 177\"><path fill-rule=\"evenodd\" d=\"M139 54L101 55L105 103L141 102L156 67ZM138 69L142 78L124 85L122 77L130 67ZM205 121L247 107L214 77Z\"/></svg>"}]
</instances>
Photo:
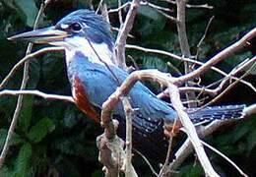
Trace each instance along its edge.
<instances>
[{"instance_id":1,"label":"dark green leafy background behind the kingfisher and bare branches","mask_svg":"<svg viewBox=\"0 0 256 177\"><path fill-rule=\"evenodd\" d=\"M116 8L117 2L106 1L108 7ZM176 7L163 1L152 1L163 7L169 7L175 16ZM10 42L10 35L31 30L40 0L0 0L0 79L9 73L11 68L25 55L27 44ZM97 1L93 6L97 7ZM206 61L216 53L240 38L246 31L255 27L256 2L253 0L212 0L189 1L190 4L213 5L209 9L187 9L187 34L192 54L197 51L209 19L215 19L200 49L198 59ZM52 1L45 10L40 27L51 26L60 18L76 9L89 8L88 1L57 0ZM118 27L116 14L110 16L111 25ZM113 32L113 35L116 33ZM180 55L176 26L156 10L143 6L139 9L132 30L135 38L128 43L149 48L158 48ZM255 39L254 39L255 40ZM33 50L41 48L35 46ZM225 72L248 57L255 55L255 41L251 46L234 53L218 65ZM160 55L128 50L140 69L157 68L178 76L178 72L168 67L172 63L181 73L181 62ZM128 60L128 64L133 64ZM19 89L22 69L16 73L6 89ZM246 80L255 83L256 69L250 72ZM209 72L202 77L202 86L218 81L219 74ZM63 53L44 54L31 62L28 89L39 89L47 93L70 95L69 84L65 73ZM151 89L160 91L159 86ZM0 98L0 148L3 147L8 128L13 116L17 97ZM209 99L208 99L209 100ZM237 85L224 95L217 104L255 103L256 94L244 85ZM237 121L231 126L221 128L207 138L207 142L220 149L230 157L249 176L256 176L256 117ZM45 100L35 96L26 96L15 138L4 163L0 176L102 176L101 164L97 161L96 136L102 133L94 121L81 113L74 105ZM182 136L181 136L182 139ZM176 145L180 142L176 141ZM222 157L207 149L210 160L222 176L239 176L239 173ZM134 165L139 176L152 176L150 168L136 154ZM204 176L199 161L191 155L180 167L177 176Z\"/></svg>"}]
</instances>

